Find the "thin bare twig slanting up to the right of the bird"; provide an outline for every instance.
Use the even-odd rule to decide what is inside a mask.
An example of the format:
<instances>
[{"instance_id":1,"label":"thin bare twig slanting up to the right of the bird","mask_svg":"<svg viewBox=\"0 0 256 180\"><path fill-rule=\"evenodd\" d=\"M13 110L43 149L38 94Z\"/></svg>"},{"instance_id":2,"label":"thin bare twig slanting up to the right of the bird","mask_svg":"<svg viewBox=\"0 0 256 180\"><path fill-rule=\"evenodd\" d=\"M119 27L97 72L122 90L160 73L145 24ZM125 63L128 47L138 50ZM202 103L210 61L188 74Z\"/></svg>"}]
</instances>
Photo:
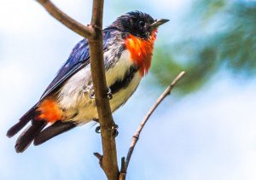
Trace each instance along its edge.
<instances>
[{"instance_id":1,"label":"thin bare twig slanting up to the right of the bird","mask_svg":"<svg viewBox=\"0 0 256 180\"><path fill-rule=\"evenodd\" d=\"M154 113L154 110L156 109L156 107L158 107L160 105L160 103L166 98L166 96L170 95L172 88L175 86L175 84L177 84L177 82L183 77L183 75L185 74L185 72L181 72L177 75L176 78L174 78L174 80L172 81L172 83L166 88L166 90L162 93L162 95L156 100L156 102L154 102L154 105L149 109L148 113L146 114L146 116L144 117L143 121L141 122L141 124L139 125L139 127L137 128L136 133L134 134L134 136L132 136L131 139L131 146L129 148L128 154L126 156L126 160L125 163L123 162L121 165L121 171L120 171L120 176L119 176L119 180L125 180L125 175L128 169L128 165L130 163L131 160L131 155L133 153L133 150L137 144L137 141L139 139L139 136L141 134L141 132L143 131L143 127L146 125L146 123L148 122L148 119L150 118L151 114ZM124 158L123 158L124 159ZM122 159L122 160L123 160Z\"/></svg>"}]
</instances>

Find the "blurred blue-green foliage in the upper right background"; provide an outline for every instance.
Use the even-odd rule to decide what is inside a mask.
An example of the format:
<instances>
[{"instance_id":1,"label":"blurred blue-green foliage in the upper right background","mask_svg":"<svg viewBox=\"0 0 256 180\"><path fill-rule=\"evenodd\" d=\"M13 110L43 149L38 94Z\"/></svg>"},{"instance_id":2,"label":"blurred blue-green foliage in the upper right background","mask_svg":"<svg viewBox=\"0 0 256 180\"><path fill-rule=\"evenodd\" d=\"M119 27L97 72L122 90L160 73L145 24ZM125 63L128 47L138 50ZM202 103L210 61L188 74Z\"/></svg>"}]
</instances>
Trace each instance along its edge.
<instances>
[{"instance_id":1,"label":"blurred blue-green foliage in the upper right background","mask_svg":"<svg viewBox=\"0 0 256 180\"><path fill-rule=\"evenodd\" d=\"M153 70L157 84L185 70L177 91L199 90L219 71L253 78L256 74L256 2L197 0L184 18L182 38L158 47Z\"/></svg>"}]
</instances>

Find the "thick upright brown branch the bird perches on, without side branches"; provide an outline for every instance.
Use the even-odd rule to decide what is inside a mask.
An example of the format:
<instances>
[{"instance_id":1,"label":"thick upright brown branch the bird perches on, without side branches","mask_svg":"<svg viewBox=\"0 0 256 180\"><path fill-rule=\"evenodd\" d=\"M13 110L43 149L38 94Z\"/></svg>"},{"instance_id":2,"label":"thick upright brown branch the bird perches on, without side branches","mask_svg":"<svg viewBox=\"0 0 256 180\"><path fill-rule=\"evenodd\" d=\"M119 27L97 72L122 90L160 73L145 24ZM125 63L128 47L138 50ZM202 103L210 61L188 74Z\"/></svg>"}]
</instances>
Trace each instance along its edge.
<instances>
[{"instance_id":1,"label":"thick upright brown branch the bird perches on, without side branches","mask_svg":"<svg viewBox=\"0 0 256 180\"><path fill-rule=\"evenodd\" d=\"M96 94L96 107L102 132L102 169L108 179L114 180L119 177L119 167L117 162L115 139L113 138L113 126L115 124L107 96L108 89L103 62L102 15L103 0L94 0L91 25L96 32L96 36L93 39L89 39L90 67Z\"/></svg>"}]
</instances>

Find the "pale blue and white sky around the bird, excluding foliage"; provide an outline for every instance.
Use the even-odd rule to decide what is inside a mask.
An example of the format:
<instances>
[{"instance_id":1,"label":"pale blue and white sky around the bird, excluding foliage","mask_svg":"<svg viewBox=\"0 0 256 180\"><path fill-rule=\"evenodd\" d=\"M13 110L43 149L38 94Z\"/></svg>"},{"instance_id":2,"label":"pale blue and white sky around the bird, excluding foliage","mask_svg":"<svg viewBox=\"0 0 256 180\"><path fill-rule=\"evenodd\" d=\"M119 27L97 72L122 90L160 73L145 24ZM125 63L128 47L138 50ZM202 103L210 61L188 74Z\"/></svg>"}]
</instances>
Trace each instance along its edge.
<instances>
[{"instance_id":1,"label":"pale blue and white sky around the bird, excluding foliage","mask_svg":"<svg viewBox=\"0 0 256 180\"><path fill-rule=\"evenodd\" d=\"M102 148L95 127L79 127L42 146L31 146L24 154L15 153L17 136L5 136L10 125L38 101L81 38L35 1L0 2L0 179L104 179L92 155ZM54 2L75 19L90 21L91 1ZM191 1L163 2L131 0L125 7L123 1L107 0L104 25L127 11L143 10L156 18L171 19L160 29L156 43L166 44L178 36L183 27L180 19ZM255 83L256 79L243 83L221 71L194 94L166 98L143 131L128 179L256 179ZM160 95L157 87L148 87L150 78L145 78L125 107L114 113L119 125L119 160Z\"/></svg>"}]
</instances>

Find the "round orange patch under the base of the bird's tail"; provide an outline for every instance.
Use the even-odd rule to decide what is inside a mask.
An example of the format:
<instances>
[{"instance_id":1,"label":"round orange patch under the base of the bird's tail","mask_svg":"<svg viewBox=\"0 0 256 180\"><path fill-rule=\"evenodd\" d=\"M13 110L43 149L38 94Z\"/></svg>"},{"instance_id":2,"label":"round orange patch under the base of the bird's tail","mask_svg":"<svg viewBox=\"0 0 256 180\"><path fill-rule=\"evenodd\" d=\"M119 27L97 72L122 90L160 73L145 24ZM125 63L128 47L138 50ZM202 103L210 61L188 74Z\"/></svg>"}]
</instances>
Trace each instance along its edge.
<instances>
[{"instance_id":1,"label":"round orange patch under the base of the bird's tail","mask_svg":"<svg viewBox=\"0 0 256 180\"><path fill-rule=\"evenodd\" d=\"M45 99L39 104L38 111L40 113L37 119L44 119L49 123L61 120L62 117L62 110L54 99Z\"/></svg>"}]
</instances>

